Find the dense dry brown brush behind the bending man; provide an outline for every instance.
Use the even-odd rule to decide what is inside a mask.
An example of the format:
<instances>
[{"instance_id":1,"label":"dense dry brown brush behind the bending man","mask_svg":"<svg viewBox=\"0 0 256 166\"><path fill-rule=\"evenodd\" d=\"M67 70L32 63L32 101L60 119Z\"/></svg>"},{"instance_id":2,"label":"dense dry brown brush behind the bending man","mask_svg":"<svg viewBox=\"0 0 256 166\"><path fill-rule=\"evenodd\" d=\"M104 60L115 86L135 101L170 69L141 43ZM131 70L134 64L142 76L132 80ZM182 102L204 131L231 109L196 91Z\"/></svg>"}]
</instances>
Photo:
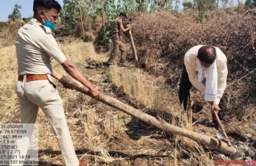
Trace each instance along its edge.
<instances>
[{"instance_id":1,"label":"dense dry brown brush behind the bending man","mask_svg":"<svg viewBox=\"0 0 256 166\"><path fill-rule=\"evenodd\" d=\"M188 15L193 15L188 12ZM164 76L170 86L175 87L182 73L186 51L198 44L219 47L228 59L225 130L234 140L246 140L246 135L252 135L249 141L252 145L256 138L256 126L252 123L256 118L255 15L211 11L203 23L183 16L186 14L178 18L164 12L134 19L132 28L141 65L155 75ZM207 123L211 121L211 113L200 96L202 94L194 91L191 93L196 107L194 116L200 123ZM255 149L255 144L251 147Z\"/></svg>"}]
</instances>

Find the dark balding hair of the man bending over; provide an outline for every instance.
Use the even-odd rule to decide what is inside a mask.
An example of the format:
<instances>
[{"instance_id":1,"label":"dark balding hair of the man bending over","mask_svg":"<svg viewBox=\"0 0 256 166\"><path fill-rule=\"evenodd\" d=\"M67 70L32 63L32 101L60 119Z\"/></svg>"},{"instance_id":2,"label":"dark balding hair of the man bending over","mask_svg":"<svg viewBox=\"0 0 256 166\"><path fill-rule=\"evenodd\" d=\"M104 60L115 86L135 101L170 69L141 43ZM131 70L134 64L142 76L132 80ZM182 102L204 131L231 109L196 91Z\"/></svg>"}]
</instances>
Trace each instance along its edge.
<instances>
[{"instance_id":1,"label":"dark balding hair of the man bending over","mask_svg":"<svg viewBox=\"0 0 256 166\"><path fill-rule=\"evenodd\" d=\"M204 63L212 64L216 59L216 49L211 45L204 45L198 50L197 57Z\"/></svg>"}]
</instances>

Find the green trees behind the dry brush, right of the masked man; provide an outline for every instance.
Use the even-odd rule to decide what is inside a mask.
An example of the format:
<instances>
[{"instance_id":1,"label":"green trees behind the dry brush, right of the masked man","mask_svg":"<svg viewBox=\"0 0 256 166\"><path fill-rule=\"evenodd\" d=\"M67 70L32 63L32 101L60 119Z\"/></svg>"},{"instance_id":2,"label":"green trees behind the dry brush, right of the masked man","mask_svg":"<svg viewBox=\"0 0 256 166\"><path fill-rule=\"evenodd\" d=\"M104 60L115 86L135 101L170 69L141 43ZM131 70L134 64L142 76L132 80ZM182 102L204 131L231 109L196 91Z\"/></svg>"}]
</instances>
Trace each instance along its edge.
<instances>
[{"instance_id":1,"label":"green trees behind the dry brush, right of the masked man","mask_svg":"<svg viewBox=\"0 0 256 166\"><path fill-rule=\"evenodd\" d=\"M234 2L234 0L63 0L61 23L69 31L81 33L83 29L84 34L84 31L95 30L95 24L99 25L99 19L102 19L101 35L103 40L109 43L111 42L111 22L120 12L125 12L127 15L162 10L179 12L180 2L182 2L184 10L196 10L198 20L203 21L206 11L218 9L219 1L223 8ZM255 5L256 0L246 0L246 4L247 6Z\"/></svg>"}]
</instances>

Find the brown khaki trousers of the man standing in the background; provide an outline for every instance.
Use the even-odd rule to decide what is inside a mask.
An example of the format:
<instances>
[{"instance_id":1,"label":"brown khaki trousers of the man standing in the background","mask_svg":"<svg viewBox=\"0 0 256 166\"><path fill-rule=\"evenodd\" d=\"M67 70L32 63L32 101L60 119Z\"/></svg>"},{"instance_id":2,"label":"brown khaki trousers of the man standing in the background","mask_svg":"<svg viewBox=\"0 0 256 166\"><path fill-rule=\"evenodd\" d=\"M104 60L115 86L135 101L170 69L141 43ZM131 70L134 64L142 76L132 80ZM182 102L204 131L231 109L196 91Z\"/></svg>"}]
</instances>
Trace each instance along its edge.
<instances>
[{"instance_id":1,"label":"brown khaki trousers of the man standing in the background","mask_svg":"<svg viewBox=\"0 0 256 166\"><path fill-rule=\"evenodd\" d=\"M126 61L127 54L124 43L120 40L120 36L118 36L118 34L114 34L111 39L113 41L113 50L108 62L112 63L114 61L116 63L118 54L121 52L120 63L124 63Z\"/></svg>"}]
</instances>

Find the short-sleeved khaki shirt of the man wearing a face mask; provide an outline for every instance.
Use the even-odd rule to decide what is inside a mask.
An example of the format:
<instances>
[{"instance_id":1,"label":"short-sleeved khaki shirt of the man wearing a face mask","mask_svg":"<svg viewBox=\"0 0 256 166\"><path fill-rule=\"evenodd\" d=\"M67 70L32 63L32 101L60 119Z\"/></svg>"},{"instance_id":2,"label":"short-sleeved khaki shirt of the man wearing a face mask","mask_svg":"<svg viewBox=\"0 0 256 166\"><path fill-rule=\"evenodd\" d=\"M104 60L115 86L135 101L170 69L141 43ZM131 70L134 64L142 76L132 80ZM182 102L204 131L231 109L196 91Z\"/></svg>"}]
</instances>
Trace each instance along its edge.
<instances>
[{"instance_id":1,"label":"short-sleeved khaki shirt of the man wearing a face mask","mask_svg":"<svg viewBox=\"0 0 256 166\"><path fill-rule=\"evenodd\" d=\"M18 74L51 74L52 58L63 63L67 60L49 27L36 19L20 27L15 40Z\"/></svg>"}]
</instances>

